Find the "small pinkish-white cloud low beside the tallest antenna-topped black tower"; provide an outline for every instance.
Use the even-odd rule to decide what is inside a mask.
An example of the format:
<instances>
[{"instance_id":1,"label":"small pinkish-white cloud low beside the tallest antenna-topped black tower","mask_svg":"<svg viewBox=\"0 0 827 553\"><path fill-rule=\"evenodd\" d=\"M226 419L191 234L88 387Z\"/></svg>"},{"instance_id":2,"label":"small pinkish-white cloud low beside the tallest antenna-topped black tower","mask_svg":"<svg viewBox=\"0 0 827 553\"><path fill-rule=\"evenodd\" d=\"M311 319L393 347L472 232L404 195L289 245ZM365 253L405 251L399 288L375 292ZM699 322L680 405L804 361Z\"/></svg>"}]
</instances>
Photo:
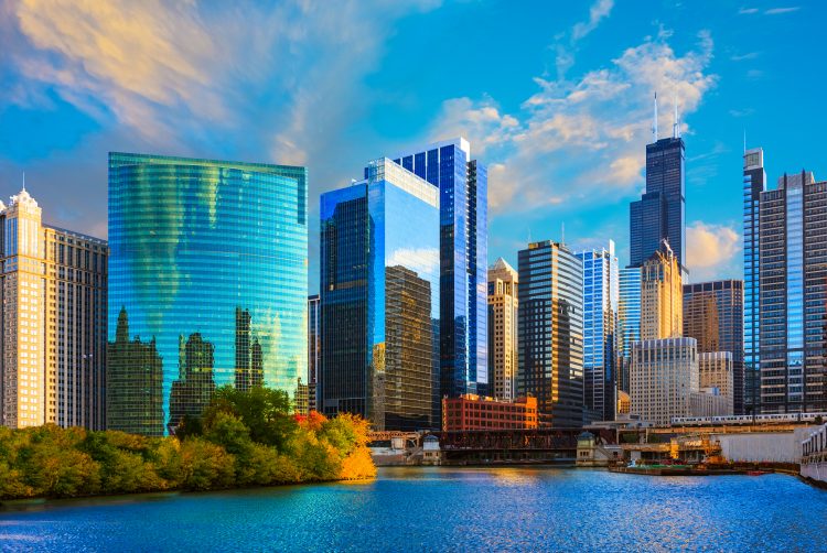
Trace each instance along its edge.
<instances>
[{"instance_id":1,"label":"small pinkish-white cloud low beside the tallest antenna-topped black tower","mask_svg":"<svg viewBox=\"0 0 827 553\"><path fill-rule=\"evenodd\" d=\"M734 228L694 221L686 228L686 264L692 281L700 282L738 272L741 237Z\"/></svg>"}]
</instances>

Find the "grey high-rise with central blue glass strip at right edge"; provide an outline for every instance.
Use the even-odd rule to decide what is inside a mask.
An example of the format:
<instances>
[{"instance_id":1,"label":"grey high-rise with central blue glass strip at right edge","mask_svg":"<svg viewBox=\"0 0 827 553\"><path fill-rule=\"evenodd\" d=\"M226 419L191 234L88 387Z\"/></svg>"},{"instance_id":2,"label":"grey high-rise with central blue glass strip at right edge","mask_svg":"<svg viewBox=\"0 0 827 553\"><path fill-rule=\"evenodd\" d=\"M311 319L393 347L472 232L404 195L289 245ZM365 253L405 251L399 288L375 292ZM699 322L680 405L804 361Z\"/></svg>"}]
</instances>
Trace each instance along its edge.
<instances>
[{"instance_id":1,"label":"grey high-rise with central blue glass strip at right edge","mask_svg":"<svg viewBox=\"0 0 827 553\"><path fill-rule=\"evenodd\" d=\"M805 171L760 196L762 413L827 411L826 206L827 182Z\"/></svg>"}]
</instances>

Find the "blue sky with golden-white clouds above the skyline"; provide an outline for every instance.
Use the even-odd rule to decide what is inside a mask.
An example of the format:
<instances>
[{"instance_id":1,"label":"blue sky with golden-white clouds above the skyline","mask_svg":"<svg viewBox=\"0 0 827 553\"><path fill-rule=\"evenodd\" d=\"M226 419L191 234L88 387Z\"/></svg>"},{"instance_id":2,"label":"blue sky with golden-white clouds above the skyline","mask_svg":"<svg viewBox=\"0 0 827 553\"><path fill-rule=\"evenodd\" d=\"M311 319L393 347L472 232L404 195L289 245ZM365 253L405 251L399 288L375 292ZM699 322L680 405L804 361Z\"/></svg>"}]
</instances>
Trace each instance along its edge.
<instances>
[{"instance_id":1,"label":"blue sky with golden-white clouds above the skyline","mask_svg":"<svg viewBox=\"0 0 827 553\"><path fill-rule=\"evenodd\" d=\"M319 195L465 135L488 261L616 243L677 100L690 280L741 278L742 152L827 178L827 2L0 0L0 197L106 237L107 152L297 164Z\"/></svg>"}]
</instances>

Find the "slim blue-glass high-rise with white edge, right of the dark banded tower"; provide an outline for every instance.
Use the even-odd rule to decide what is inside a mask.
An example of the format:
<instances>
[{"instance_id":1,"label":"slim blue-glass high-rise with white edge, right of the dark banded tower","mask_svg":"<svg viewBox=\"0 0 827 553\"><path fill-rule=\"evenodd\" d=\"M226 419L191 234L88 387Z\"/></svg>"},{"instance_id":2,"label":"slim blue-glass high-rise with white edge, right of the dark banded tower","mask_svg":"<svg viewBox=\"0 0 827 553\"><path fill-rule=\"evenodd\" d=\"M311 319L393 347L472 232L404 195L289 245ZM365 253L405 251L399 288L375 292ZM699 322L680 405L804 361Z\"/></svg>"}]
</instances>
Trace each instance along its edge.
<instances>
[{"instance_id":1,"label":"slim blue-glass high-rise with white edge, right of the dark banded tower","mask_svg":"<svg viewBox=\"0 0 827 553\"><path fill-rule=\"evenodd\" d=\"M583 263L584 422L614 420L620 273L614 242L576 253Z\"/></svg>"}]
</instances>

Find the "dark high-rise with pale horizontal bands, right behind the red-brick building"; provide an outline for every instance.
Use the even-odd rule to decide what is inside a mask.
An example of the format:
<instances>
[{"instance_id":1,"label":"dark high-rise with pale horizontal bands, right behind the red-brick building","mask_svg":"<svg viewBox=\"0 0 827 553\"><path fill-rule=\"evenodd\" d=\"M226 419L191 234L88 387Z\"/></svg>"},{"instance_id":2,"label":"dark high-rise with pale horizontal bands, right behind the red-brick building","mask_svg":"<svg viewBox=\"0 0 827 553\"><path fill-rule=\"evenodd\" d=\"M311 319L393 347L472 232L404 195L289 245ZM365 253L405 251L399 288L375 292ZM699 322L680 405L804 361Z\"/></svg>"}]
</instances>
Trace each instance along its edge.
<instances>
[{"instance_id":1,"label":"dark high-rise with pale horizontal bands, right behind the red-brick building","mask_svg":"<svg viewBox=\"0 0 827 553\"><path fill-rule=\"evenodd\" d=\"M583 416L583 263L563 245L519 251L517 394L537 398L540 425L577 427Z\"/></svg>"}]
</instances>

